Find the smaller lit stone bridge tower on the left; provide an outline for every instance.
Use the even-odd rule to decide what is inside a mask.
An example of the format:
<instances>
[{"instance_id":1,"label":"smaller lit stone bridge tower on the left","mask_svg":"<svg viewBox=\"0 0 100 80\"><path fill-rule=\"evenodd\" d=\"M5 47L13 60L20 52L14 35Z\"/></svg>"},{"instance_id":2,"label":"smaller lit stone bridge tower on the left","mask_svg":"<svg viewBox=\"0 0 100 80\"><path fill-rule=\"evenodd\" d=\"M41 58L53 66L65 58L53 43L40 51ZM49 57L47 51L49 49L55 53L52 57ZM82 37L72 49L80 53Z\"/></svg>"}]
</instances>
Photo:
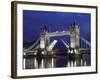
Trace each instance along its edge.
<instances>
[{"instance_id":1,"label":"smaller lit stone bridge tower on the left","mask_svg":"<svg viewBox=\"0 0 100 80\"><path fill-rule=\"evenodd\" d=\"M47 27L41 28L40 31L40 49L42 54L46 54L46 46L47 46L47 37L46 34L48 33Z\"/></svg>"}]
</instances>

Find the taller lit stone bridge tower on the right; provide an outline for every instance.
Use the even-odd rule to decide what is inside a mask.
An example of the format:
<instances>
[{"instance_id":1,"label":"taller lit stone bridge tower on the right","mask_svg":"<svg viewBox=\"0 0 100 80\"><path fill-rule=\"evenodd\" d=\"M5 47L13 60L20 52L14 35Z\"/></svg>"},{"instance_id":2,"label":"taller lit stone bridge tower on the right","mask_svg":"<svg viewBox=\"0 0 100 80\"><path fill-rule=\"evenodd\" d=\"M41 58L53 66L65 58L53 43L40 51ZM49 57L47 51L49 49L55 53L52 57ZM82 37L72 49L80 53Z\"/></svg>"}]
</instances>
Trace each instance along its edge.
<instances>
[{"instance_id":1,"label":"taller lit stone bridge tower on the right","mask_svg":"<svg viewBox=\"0 0 100 80\"><path fill-rule=\"evenodd\" d=\"M76 54L79 54L80 28L76 21L71 25L70 29L70 47L75 50Z\"/></svg>"}]
</instances>

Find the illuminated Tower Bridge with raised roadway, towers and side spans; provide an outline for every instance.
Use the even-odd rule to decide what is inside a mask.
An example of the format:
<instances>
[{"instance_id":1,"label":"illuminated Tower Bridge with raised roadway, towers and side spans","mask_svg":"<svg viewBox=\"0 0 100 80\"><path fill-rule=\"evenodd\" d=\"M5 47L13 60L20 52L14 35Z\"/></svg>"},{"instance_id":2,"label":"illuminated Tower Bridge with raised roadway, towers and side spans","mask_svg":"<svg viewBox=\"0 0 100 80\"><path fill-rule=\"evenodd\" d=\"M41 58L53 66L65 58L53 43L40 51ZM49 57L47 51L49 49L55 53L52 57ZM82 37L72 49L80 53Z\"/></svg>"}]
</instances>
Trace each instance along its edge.
<instances>
[{"instance_id":1,"label":"illuminated Tower Bridge with raised roadway, towers and side spans","mask_svg":"<svg viewBox=\"0 0 100 80\"><path fill-rule=\"evenodd\" d=\"M33 43L32 46L24 49L24 52L35 52L36 49L41 49L41 53L46 55L48 51L52 52L54 46L57 44L57 40L52 42L50 40L51 37L56 36L70 36L70 43L68 43L67 40L64 41L61 39L62 43L66 46L66 49L69 50L69 53L75 52L75 54L80 54L81 50L89 50L91 48L91 43L80 36L80 27L76 22L74 22L68 31L49 32L46 27L43 27L40 31L39 39L37 39L37 41ZM71 51L70 48L72 48L74 51Z\"/></svg>"}]
</instances>

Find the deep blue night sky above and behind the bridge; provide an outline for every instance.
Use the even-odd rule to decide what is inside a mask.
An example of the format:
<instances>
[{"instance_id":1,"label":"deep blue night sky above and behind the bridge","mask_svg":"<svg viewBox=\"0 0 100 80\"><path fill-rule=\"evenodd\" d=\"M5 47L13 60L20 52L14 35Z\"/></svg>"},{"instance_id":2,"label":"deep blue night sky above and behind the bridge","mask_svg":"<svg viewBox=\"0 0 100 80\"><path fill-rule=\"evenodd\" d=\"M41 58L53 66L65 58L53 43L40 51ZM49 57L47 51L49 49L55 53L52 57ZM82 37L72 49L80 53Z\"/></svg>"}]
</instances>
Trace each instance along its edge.
<instances>
[{"instance_id":1,"label":"deep blue night sky above and behind the bridge","mask_svg":"<svg viewBox=\"0 0 100 80\"><path fill-rule=\"evenodd\" d=\"M91 14L89 13L23 10L23 43L39 38L40 28L44 26L47 26L50 32L68 31L75 20L80 26L80 35L90 42ZM59 38L69 41L69 36L54 39Z\"/></svg>"}]
</instances>

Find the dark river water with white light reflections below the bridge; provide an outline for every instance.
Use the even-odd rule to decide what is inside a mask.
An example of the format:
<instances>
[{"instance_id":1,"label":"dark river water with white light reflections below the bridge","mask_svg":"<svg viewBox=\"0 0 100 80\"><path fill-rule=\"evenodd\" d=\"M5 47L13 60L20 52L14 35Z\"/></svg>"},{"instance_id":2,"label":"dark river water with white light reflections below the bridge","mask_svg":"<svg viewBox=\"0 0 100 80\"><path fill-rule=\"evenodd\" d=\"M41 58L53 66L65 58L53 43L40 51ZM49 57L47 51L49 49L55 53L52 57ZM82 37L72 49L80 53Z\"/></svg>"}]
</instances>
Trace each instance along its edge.
<instances>
[{"instance_id":1,"label":"dark river water with white light reflections below the bridge","mask_svg":"<svg viewBox=\"0 0 100 80\"><path fill-rule=\"evenodd\" d=\"M24 58L24 69L91 66L90 54Z\"/></svg>"}]
</instances>

